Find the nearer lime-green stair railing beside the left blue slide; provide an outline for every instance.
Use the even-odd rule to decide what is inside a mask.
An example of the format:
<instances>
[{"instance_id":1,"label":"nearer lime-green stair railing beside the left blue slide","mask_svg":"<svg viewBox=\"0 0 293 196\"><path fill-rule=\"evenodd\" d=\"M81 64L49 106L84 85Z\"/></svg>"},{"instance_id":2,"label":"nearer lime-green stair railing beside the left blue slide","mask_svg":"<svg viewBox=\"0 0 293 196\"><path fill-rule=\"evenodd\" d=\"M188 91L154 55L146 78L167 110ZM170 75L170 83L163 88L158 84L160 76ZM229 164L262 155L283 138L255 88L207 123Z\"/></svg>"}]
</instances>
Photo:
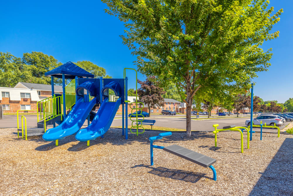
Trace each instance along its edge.
<instances>
[{"instance_id":1,"label":"nearer lime-green stair railing beside the left blue slide","mask_svg":"<svg viewBox=\"0 0 293 196\"><path fill-rule=\"evenodd\" d=\"M62 97L54 97L43 102L43 116L44 118L44 129L46 132L46 121L61 116L62 120Z\"/></svg>"}]
</instances>

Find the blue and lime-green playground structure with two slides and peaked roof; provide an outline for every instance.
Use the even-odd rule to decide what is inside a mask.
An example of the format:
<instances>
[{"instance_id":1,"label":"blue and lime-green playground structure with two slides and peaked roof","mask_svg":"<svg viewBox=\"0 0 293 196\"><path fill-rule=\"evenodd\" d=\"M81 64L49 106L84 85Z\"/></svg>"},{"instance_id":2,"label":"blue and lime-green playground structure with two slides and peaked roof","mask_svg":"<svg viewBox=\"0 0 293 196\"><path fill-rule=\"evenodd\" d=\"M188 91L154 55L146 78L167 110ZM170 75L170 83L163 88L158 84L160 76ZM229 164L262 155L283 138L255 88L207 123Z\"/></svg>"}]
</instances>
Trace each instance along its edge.
<instances>
[{"instance_id":1,"label":"blue and lime-green playground structure with two slides and peaked roof","mask_svg":"<svg viewBox=\"0 0 293 196\"><path fill-rule=\"evenodd\" d=\"M37 103L39 106L38 127L25 128L26 131L23 133L22 123L21 129L18 125L18 137L19 131L22 131L22 135L25 135L26 138L27 136L42 135L44 140L55 140L56 145L58 145L59 139L76 133L75 138L77 140L87 141L87 145L89 145L89 140L103 137L104 133L108 131L120 104L122 104L122 135L125 135L125 139L128 139L127 104L130 101L127 100L126 69L130 68L125 68L124 77L118 79L93 78L93 74L71 62L48 71L45 76L51 77L52 96ZM135 69L130 70L136 71ZM62 95L54 94L54 77L62 78ZM66 79L71 79L67 86L65 86ZM144 133L144 131L138 131L139 128L143 128L142 122L144 120L144 117L138 114L138 111L142 111L144 105L137 102L137 86L136 102L132 103L136 107L130 105L130 108L132 113L136 111L136 115L134 115L135 118L130 118L132 121L130 132L138 135ZM100 107L98 112L94 113L92 109L97 104L100 104ZM142 107L138 107L138 105ZM141 116L143 119L138 119ZM88 126L80 130L86 119L88 120ZM56 127L56 124L59 126ZM53 125L53 128L47 130L48 125ZM134 128L136 132L132 131Z\"/></svg>"}]
</instances>

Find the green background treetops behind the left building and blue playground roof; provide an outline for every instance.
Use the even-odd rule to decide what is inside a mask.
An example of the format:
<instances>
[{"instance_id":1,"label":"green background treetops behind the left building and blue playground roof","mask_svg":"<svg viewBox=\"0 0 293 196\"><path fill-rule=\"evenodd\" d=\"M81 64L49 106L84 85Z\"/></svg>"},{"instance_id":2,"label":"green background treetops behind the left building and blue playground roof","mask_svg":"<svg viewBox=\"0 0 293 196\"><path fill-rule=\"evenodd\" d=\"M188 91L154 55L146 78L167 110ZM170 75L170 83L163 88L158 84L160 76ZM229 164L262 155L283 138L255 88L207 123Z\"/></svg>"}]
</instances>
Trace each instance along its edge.
<instances>
[{"instance_id":1,"label":"green background treetops behind the left building and blue playground roof","mask_svg":"<svg viewBox=\"0 0 293 196\"><path fill-rule=\"evenodd\" d=\"M112 78L106 75L104 68L90 61L77 61L76 64L97 78ZM45 73L60 65L62 63L53 56L42 52L23 53L22 58L15 57L9 52L0 52L0 86L13 87L18 82L51 84L51 78L45 77ZM54 83L61 85L62 81L54 78Z\"/></svg>"}]
</instances>

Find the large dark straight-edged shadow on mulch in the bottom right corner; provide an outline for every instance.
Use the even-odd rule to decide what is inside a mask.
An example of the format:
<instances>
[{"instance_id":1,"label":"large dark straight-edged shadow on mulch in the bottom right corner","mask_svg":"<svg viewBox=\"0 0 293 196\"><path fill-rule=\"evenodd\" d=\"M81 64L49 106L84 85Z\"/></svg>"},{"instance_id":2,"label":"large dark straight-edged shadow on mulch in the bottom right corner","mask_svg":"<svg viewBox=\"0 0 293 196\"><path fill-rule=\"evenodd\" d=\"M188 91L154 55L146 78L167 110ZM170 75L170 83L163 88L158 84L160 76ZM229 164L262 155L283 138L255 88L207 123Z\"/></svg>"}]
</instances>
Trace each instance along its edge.
<instances>
[{"instance_id":1,"label":"large dark straight-edged shadow on mulch in the bottom right corner","mask_svg":"<svg viewBox=\"0 0 293 196\"><path fill-rule=\"evenodd\" d=\"M293 138L286 138L249 195L293 195Z\"/></svg>"}]
</instances>

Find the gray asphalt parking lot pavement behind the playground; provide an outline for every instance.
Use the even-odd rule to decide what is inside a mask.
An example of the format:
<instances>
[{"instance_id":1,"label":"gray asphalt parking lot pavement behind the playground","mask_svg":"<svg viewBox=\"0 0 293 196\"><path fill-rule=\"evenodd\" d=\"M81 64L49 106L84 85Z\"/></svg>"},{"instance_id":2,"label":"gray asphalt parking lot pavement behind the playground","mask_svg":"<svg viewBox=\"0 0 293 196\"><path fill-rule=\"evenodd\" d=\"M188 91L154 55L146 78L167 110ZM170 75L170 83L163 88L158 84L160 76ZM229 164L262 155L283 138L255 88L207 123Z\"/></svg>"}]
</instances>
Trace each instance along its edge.
<instances>
[{"instance_id":1,"label":"gray asphalt parking lot pavement behind the playground","mask_svg":"<svg viewBox=\"0 0 293 196\"><path fill-rule=\"evenodd\" d=\"M37 116L36 115L24 115L27 120L27 127L36 127L37 126ZM153 115L155 116L155 115ZM116 117L116 116L115 116ZM166 118L166 116L159 115L159 117L165 118L149 118L156 120L155 126L159 127L170 127L170 128L178 128L185 129L186 128L186 118L185 116L176 115L175 117ZM119 118L117 115L116 118ZM219 128L228 125L236 125L236 126L245 126L245 120L249 118L212 118L211 120L192 120L191 121L191 130L197 131L211 131L214 130L212 125L219 124ZM128 120L128 125L131 125L131 121ZM281 129L284 128L288 122L284 123ZM87 125L87 121L84 123ZM19 116L19 126L21 127L21 116ZM113 126L122 126L122 119L114 119L111 125ZM0 128L15 128L17 127L17 117L16 115L4 115L4 119L0 120ZM259 129L259 128L255 128ZM264 131L273 131L276 129L263 129Z\"/></svg>"}]
</instances>

